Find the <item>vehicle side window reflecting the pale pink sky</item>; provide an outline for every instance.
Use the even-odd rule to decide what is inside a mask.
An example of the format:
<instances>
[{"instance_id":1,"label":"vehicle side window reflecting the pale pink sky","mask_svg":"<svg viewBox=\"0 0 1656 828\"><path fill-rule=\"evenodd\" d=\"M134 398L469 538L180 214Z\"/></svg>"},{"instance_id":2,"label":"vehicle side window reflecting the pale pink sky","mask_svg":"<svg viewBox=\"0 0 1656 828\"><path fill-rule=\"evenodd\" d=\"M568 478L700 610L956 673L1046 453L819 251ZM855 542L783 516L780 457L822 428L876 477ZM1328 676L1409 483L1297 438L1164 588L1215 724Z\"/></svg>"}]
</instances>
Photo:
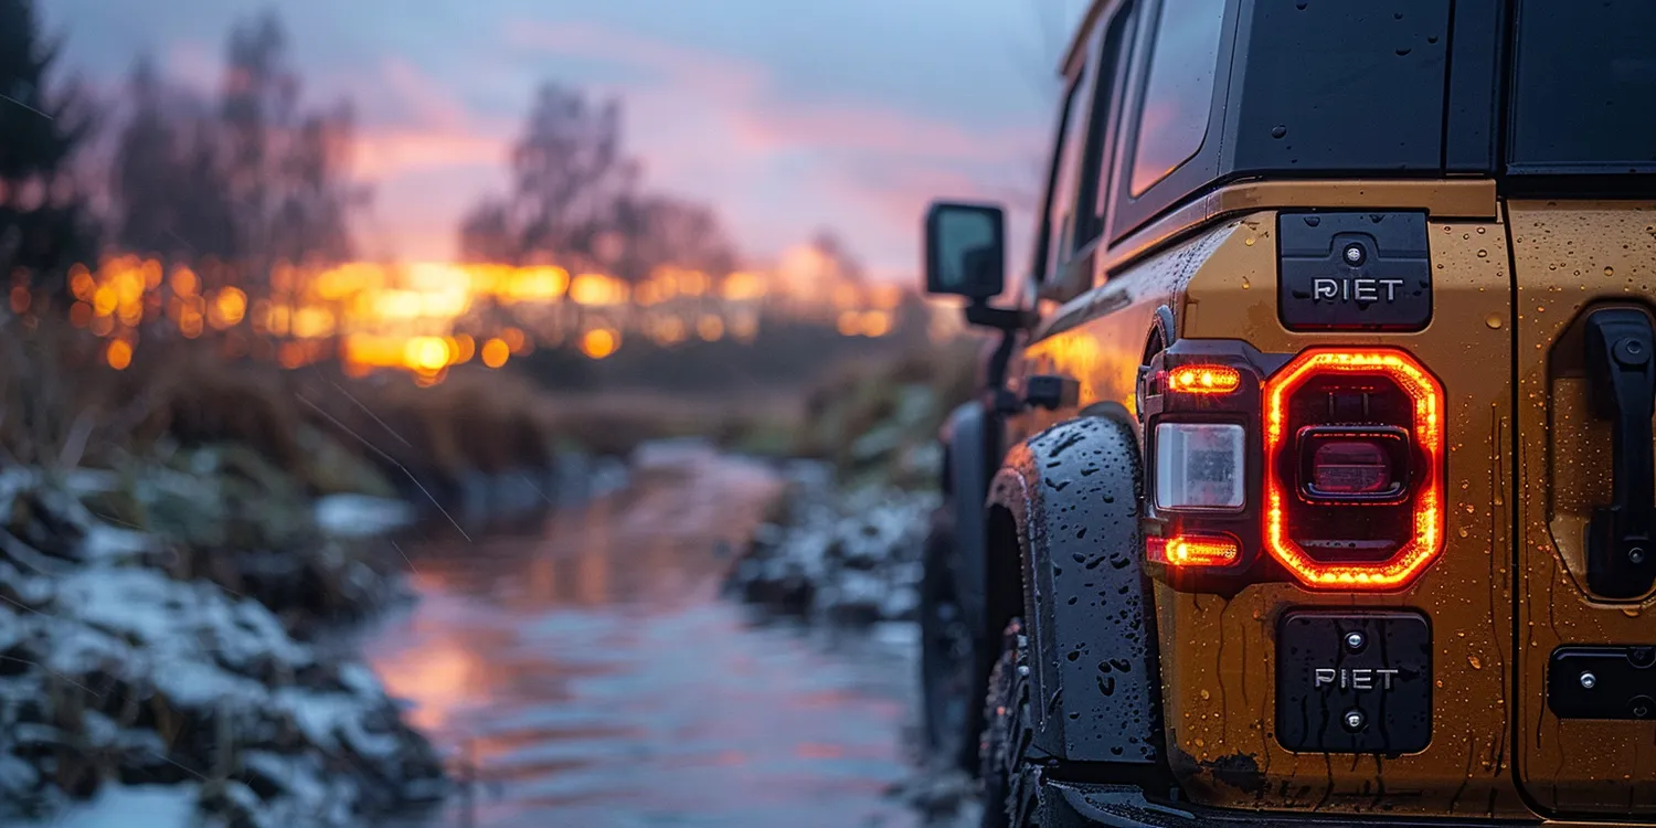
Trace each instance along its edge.
<instances>
[{"instance_id":1,"label":"vehicle side window reflecting the pale pink sky","mask_svg":"<svg viewBox=\"0 0 1656 828\"><path fill-rule=\"evenodd\" d=\"M1214 104L1225 0L1163 0L1133 142L1136 199L1202 149Z\"/></svg>"}]
</instances>

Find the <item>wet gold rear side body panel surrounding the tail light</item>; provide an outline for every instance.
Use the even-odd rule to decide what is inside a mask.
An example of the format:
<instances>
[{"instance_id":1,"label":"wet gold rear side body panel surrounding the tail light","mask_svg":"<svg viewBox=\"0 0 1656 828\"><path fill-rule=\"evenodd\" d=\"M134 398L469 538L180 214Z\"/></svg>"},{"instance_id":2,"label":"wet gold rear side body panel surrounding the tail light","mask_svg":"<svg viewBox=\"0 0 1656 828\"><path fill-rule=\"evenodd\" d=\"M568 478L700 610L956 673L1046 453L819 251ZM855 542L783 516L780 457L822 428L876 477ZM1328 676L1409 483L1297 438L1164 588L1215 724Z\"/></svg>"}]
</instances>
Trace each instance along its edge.
<instances>
[{"instance_id":1,"label":"wet gold rear side body panel surrounding the tail light","mask_svg":"<svg viewBox=\"0 0 1656 828\"><path fill-rule=\"evenodd\" d=\"M1409 184L1388 204L1464 204L1441 212L1494 214L1492 189ZM1447 187L1447 189L1444 189ZM1275 190L1275 192L1273 192ZM1361 182L1300 184L1313 207L1340 209L1330 194L1371 199ZM1267 189L1297 200L1295 184ZM1472 199L1466 199L1472 195ZM1230 194L1229 204L1239 195ZM1219 197L1224 204L1224 197ZM1330 204L1331 202L1331 204ZM1452 204L1452 202L1451 202ZM1032 373L1080 381L1081 407L1119 404L1136 414L1133 389L1154 308L1171 305L1181 338L1247 339L1268 353L1312 344L1393 344L1416 353L1449 399L1447 550L1401 593L1312 593L1260 583L1234 598L1158 585L1163 699L1172 770L1202 805L1321 813L1528 816L1510 773L1509 664L1512 652L1510 548L1510 275L1499 220L1429 222L1436 311L1419 333L1290 333L1277 306L1275 212L1222 220L1171 250L1119 270L1065 305L1027 349ZM1085 310L1078 310L1085 308ZM1497 369L1490 369L1497 366ZM1060 416L1033 414L1032 426ZM1471 512L1467 512L1471 508ZM1275 618L1288 606L1424 609L1432 621L1434 734L1426 750L1401 757L1292 753L1272 735Z\"/></svg>"}]
</instances>

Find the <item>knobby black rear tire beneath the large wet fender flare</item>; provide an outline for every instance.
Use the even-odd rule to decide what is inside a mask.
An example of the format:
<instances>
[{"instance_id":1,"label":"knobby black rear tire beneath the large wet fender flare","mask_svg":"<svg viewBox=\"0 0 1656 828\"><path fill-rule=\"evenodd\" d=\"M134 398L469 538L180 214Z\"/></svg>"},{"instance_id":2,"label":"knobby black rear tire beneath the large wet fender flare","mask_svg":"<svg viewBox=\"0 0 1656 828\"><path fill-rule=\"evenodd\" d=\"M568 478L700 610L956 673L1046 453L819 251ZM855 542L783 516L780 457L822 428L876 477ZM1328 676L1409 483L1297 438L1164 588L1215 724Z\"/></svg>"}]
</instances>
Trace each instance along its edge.
<instances>
[{"instance_id":1,"label":"knobby black rear tire beneath the large wet fender flare","mask_svg":"<svg viewBox=\"0 0 1656 828\"><path fill-rule=\"evenodd\" d=\"M1028 639L1023 623L1007 624L1000 659L989 674L980 747L984 828L1038 826L1035 765L1030 744Z\"/></svg>"}]
</instances>

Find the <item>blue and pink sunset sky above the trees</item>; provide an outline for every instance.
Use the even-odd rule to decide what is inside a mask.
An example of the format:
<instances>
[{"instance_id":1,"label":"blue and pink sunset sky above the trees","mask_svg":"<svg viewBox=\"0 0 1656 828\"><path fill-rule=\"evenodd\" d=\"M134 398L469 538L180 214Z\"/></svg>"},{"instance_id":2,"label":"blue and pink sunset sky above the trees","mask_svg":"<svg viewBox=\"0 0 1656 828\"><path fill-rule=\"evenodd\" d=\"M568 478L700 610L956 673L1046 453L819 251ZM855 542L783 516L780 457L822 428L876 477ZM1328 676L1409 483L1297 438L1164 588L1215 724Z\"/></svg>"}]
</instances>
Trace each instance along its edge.
<instances>
[{"instance_id":1,"label":"blue and pink sunset sky above the trees","mask_svg":"<svg viewBox=\"0 0 1656 828\"><path fill-rule=\"evenodd\" d=\"M142 51L217 88L260 0L41 0L65 63L116 91ZM647 185L712 202L768 258L836 229L878 275L917 268L934 195L1027 207L1078 0L288 0L308 101L356 101L374 182L364 255L445 258L505 185L533 88L624 96ZM1028 224L1018 210L1012 230Z\"/></svg>"}]
</instances>

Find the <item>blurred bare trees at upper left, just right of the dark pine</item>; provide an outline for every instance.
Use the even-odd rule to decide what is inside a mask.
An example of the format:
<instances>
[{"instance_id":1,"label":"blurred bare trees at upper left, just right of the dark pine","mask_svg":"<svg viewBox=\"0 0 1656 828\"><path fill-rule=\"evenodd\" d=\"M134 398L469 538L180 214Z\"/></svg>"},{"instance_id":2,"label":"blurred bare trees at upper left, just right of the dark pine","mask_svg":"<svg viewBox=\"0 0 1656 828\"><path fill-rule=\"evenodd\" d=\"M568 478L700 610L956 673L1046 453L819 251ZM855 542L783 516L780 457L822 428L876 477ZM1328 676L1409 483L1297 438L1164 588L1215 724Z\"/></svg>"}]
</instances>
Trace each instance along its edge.
<instances>
[{"instance_id":1,"label":"blurred bare trees at upper left, just right of the dark pine","mask_svg":"<svg viewBox=\"0 0 1656 828\"><path fill-rule=\"evenodd\" d=\"M119 245L233 262L255 295L278 262L353 253L349 217L368 197L344 172L353 113L303 108L286 50L273 12L235 25L212 104L169 86L147 60L132 68L134 113L111 171Z\"/></svg>"}]
</instances>

